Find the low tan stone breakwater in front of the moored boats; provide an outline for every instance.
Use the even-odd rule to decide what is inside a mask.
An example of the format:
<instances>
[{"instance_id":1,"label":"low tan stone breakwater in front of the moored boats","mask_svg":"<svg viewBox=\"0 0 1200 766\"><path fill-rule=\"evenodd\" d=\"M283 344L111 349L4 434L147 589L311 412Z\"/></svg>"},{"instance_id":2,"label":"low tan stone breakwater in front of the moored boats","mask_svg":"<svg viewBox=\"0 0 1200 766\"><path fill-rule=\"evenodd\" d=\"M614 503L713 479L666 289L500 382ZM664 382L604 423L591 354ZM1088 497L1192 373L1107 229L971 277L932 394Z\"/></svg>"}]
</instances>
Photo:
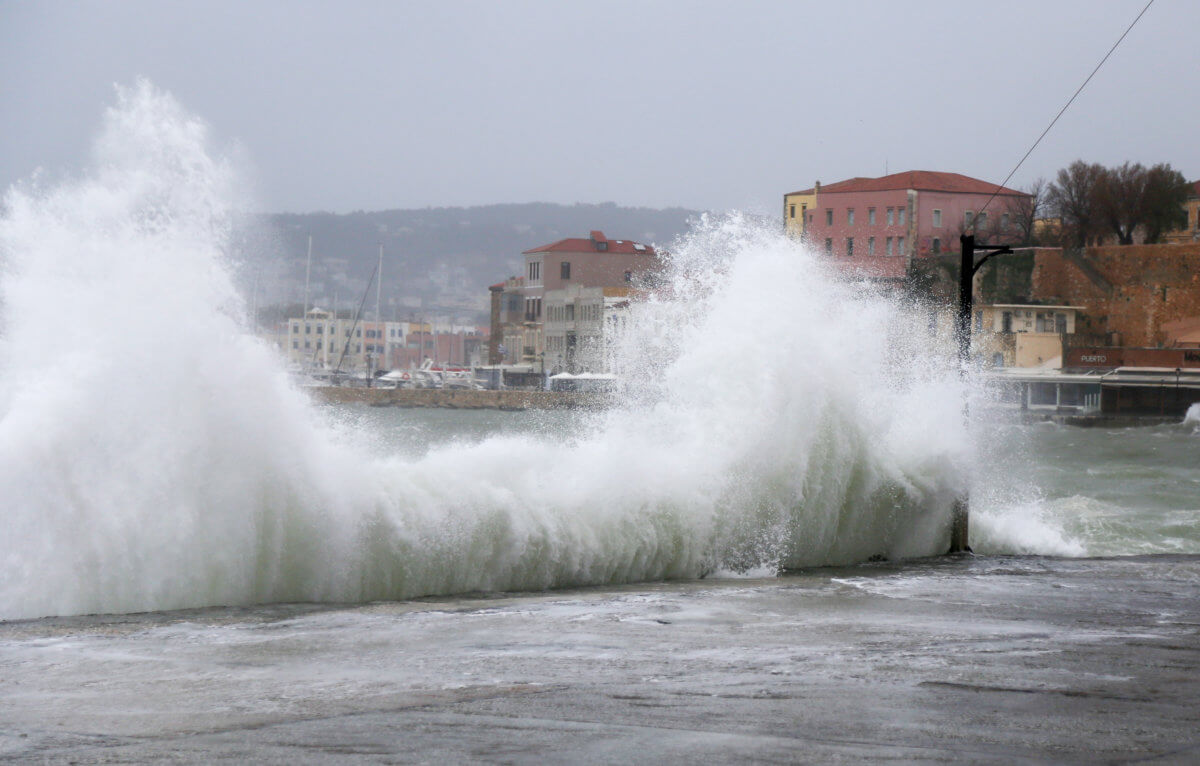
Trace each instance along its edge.
<instances>
[{"instance_id":1,"label":"low tan stone breakwater in front of the moored boats","mask_svg":"<svg viewBox=\"0 0 1200 766\"><path fill-rule=\"evenodd\" d=\"M437 388L313 388L313 399L328 403L372 407L442 407L445 409L596 409L608 407L611 394L578 391L488 391Z\"/></svg>"}]
</instances>

